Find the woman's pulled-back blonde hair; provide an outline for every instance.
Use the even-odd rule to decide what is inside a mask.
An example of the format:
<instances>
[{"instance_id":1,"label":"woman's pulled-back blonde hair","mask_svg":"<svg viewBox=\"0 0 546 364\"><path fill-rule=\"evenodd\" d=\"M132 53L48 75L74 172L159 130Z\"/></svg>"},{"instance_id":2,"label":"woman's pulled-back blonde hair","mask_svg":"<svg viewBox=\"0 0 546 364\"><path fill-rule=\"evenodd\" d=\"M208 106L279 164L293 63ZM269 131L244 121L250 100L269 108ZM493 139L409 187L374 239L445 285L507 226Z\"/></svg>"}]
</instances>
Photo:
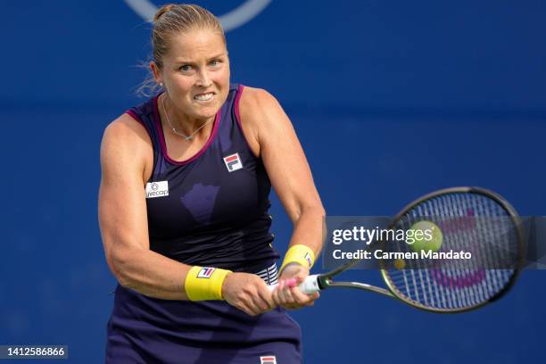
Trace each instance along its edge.
<instances>
[{"instance_id":1,"label":"woman's pulled-back blonde hair","mask_svg":"<svg viewBox=\"0 0 546 364\"><path fill-rule=\"evenodd\" d=\"M152 59L161 70L163 56L170 50L172 37L195 29L215 31L226 45L224 29L211 12L195 4L165 4L153 16ZM150 96L161 87L155 83L151 73L136 90L139 95Z\"/></svg>"}]
</instances>

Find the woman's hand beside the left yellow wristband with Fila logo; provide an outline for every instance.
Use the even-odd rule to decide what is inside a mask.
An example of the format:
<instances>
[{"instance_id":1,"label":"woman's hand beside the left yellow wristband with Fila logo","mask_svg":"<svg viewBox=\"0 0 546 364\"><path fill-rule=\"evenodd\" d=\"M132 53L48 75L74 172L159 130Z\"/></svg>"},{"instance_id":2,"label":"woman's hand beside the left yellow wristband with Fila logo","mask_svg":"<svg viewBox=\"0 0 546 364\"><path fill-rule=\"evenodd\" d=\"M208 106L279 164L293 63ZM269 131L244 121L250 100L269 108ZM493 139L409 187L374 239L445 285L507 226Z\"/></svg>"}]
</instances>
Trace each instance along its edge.
<instances>
[{"instance_id":1,"label":"woman's hand beside the left yellow wristband with Fila logo","mask_svg":"<svg viewBox=\"0 0 546 364\"><path fill-rule=\"evenodd\" d=\"M222 285L222 296L227 303L251 316L276 307L268 285L255 274L229 273Z\"/></svg>"}]
</instances>

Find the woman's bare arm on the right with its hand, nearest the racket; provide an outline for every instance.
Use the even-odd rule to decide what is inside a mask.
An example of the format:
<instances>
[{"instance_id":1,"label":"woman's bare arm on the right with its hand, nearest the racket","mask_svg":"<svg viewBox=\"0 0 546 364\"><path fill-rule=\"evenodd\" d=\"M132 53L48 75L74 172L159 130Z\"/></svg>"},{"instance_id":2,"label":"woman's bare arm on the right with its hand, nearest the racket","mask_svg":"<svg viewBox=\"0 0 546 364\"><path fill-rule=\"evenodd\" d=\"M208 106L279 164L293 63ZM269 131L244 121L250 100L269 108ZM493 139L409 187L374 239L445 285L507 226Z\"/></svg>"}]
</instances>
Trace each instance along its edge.
<instances>
[{"instance_id":1,"label":"woman's bare arm on the right with its hand, nearest the racket","mask_svg":"<svg viewBox=\"0 0 546 364\"><path fill-rule=\"evenodd\" d=\"M271 184L294 224L289 248L303 245L296 249L310 249L311 255L318 257L324 241L325 210L292 123L275 97L258 88L244 87L239 112L249 145L261 156ZM298 308L318 298L318 294L302 294L297 288L309 275L306 265L290 263L281 269L273 293L277 304Z\"/></svg>"}]
</instances>

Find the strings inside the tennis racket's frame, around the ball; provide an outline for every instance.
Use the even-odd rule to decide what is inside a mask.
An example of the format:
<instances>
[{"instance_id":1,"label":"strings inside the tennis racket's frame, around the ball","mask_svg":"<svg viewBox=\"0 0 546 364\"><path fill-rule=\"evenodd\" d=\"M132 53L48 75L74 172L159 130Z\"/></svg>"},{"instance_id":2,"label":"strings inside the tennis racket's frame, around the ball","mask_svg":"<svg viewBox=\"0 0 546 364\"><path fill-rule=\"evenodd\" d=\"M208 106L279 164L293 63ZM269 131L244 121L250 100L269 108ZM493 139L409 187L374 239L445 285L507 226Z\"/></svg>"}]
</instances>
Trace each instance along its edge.
<instances>
[{"instance_id":1,"label":"strings inside the tennis racket's frame, around the ball","mask_svg":"<svg viewBox=\"0 0 546 364\"><path fill-rule=\"evenodd\" d=\"M467 251L471 263L454 260L449 267L432 267L420 259L405 260L405 269L388 269L386 277L397 294L427 308L456 310L487 302L514 274L506 266L517 249L517 234L509 213L482 194L443 194L408 211L395 228L408 230L416 222L432 220L443 227L440 251ZM393 246L411 252L404 242Z\"/></svg>"}]
</instances>

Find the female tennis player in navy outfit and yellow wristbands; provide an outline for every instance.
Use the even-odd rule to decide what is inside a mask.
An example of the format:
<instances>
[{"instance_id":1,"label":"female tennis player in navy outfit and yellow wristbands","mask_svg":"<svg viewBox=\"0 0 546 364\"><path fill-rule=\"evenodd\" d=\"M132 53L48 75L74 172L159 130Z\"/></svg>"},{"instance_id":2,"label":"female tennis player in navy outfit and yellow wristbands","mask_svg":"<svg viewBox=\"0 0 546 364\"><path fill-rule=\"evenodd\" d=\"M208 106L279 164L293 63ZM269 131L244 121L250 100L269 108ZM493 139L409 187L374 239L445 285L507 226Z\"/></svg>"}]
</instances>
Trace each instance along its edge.
<instances>
[{"instance_id":1,"label":"female tennis player in navy outfit and yellow wristbands","mask_svg":"<svg viewBox=\"0 0 546 364\"><path fill-rule=\"evenodd\" d=\"M160 92L114 120L101 146L99 219L119 281L106 362L300 363L285 308L318 298L297 285L325 211L294 128L268 92L230 84L210 12L162 6L152 43ZM271 185L294 222L278 278Z\"/></svg>"}]
</instances>

